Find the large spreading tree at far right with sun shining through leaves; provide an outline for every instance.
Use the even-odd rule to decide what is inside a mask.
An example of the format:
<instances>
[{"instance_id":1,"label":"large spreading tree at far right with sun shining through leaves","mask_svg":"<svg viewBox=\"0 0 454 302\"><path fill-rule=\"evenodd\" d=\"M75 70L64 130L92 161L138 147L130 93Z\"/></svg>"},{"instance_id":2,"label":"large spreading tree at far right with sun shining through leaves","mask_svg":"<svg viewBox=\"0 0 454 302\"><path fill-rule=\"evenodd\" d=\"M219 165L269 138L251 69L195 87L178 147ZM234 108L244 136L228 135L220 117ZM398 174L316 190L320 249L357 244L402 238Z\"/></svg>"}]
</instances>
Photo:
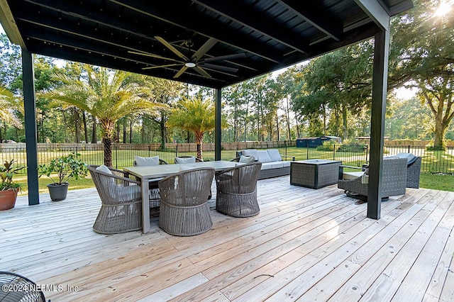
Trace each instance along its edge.
<instances>
[{"instance_id":1,"label":"large spreading tree at far right with sun shining through leaves","mask_svg":"<svg viewBox=\"0 0 454 302\"><path fill-rule=\"evenodd\" d=\"M392 22L389 88L419 89L433 116L433 147L442 149L454 118L454 11L441 1L414 4Z\"/></svg>"}]
</instances>

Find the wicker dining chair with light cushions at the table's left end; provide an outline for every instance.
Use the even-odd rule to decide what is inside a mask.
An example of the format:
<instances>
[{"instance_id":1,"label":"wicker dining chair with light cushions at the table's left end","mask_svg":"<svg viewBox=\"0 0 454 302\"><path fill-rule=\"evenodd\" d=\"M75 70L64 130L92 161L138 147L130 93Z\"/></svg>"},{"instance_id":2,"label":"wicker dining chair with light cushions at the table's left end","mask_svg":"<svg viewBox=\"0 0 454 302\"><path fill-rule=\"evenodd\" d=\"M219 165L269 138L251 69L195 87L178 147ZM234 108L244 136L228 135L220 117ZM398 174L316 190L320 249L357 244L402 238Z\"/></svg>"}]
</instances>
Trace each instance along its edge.
<instances>
[{"instance_id":1,"label":"wicker dining chair with light cushions at the table's left end","mask_svg":"<svg viewBox=\"0 0 454 302\"><path fill-rule=\"evenodd\" d=\"M140 181L127 172L96 165L87 166L101 209L93 225L100 234L124 233L142 228L142 189Z\"/></svg>"}]
</instances>

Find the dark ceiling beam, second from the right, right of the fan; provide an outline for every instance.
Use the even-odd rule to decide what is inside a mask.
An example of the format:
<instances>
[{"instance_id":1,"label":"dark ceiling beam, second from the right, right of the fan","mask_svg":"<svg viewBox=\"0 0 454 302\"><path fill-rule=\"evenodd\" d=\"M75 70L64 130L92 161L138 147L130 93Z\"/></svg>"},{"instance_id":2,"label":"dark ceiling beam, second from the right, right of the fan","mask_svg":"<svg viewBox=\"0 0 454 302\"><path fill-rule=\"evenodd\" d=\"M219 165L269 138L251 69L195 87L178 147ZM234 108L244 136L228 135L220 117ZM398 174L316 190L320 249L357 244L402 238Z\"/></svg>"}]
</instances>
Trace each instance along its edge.
<instances>
[{"instance_id":1,"label":"dark ceiling beam, second from the right, right of the fan","mask_svg":"<svg viewBox=\"0 0 454 302\"><path fill-rule=\"evenodd\" d=\"M221 16L241 24L242 26L251 28L252 30L262 33L263 35L267 35L273 40L287 45L298 52L310 52L308 43L306 43L304 39L298 38L296 34L292 34L288 28L284 28L271 18L265 16L265 14L262 14L259 11L251 10L250 6L241 5L240 2L236 2L233 6L231 3L218 0L193 1L205 9L214 11ZM254 16L255 18L250 18L250 16Z\"/></svg>"}]
</instances>

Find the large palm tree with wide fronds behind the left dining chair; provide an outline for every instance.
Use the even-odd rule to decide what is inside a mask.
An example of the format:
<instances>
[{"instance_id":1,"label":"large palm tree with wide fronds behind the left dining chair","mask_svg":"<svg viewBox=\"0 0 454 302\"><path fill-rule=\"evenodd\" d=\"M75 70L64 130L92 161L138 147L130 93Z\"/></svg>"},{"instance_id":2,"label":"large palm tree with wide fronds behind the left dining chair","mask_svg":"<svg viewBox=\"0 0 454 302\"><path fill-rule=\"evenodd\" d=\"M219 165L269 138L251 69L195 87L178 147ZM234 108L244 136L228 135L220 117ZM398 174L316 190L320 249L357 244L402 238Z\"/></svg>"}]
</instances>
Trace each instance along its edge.
<instances>
[{"instance_id":1,"label":"large palm tree with wide fronds behind the left dining chair","mask_svg":"<svg viewBox=\"0 0 454 302\"><path fill-rule=\"evenodd\" d=\"M138 111L151 111L155 104L145 99L138 84L129 82L128 72L84 65L87 79L80 75L57 73L52 79L60 82L56 89L43 94L57 101L63 109L76 107L96 117L101 125L104 143L104 164L112 167L112 135L119 118Z\"/></svg>"}]
</instances>

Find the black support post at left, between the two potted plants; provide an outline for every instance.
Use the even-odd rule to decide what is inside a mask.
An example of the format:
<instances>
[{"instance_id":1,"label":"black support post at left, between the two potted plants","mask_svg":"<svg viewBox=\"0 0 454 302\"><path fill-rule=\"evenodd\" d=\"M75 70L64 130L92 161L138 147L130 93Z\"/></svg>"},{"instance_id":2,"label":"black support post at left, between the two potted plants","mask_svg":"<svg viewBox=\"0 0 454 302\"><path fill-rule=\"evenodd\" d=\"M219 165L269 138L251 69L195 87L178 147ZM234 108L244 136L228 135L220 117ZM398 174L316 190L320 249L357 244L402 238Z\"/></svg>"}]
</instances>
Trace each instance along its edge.
<instances>
[{"instance_id":1,"label":"black support post at left, between the two potted plants","mask_svg":"<svg viewBox=\"0 0 454 302\"><path fill-rule=\"evenodd\" d=\"M28 205L40 203L38 191L38 147L36 145L35 76L33 55L22 50L23 107L26 128Z\"/></svg>"}]
</instances>

